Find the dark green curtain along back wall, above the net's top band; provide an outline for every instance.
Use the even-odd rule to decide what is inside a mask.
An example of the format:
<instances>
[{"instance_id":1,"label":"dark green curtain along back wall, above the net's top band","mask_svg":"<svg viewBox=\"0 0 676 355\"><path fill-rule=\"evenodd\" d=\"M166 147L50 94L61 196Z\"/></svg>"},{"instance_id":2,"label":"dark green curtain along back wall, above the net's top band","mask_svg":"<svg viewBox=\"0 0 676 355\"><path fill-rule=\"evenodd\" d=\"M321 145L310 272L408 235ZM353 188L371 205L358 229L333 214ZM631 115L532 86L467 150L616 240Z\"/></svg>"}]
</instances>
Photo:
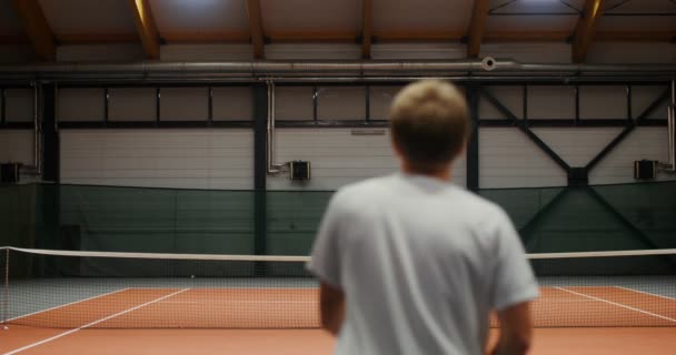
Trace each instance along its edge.
<instances>
[{"instance_id":1,"label":"dark green curtain along back wall, above the net's top band","mask_svg":"<svg viewBox=\"0 0 676 355\"><path fill-rule=\"evenodd\" d=\"M477 193L507 211L528 253L676 247L676 182ZM268 191L257 205L252 191L3 185L0 243L105 252L307 255L331 194Z\"/></svg>"}]
</instances>

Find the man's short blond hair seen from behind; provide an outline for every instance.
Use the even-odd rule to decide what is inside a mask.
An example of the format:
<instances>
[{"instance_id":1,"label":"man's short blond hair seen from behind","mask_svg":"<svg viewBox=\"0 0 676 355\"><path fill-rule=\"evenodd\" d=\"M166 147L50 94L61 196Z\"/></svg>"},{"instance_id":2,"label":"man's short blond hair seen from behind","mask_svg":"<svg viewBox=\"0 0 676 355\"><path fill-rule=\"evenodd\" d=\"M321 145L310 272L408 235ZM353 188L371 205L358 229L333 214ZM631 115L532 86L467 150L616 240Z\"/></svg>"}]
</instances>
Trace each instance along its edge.
<instances>
[{"instance_id":1,"label":"man's short blond hair seen from behind","mask_svg":"<svg viewBox=\"0 0 676 355\"><path fill-rule=\"evenodd\" d=\"M422 173L453 162L469 135L465 97L440 80L404 88L392 102L390 118L395 145L408 164Z\"/></svg>"}]
</instances>

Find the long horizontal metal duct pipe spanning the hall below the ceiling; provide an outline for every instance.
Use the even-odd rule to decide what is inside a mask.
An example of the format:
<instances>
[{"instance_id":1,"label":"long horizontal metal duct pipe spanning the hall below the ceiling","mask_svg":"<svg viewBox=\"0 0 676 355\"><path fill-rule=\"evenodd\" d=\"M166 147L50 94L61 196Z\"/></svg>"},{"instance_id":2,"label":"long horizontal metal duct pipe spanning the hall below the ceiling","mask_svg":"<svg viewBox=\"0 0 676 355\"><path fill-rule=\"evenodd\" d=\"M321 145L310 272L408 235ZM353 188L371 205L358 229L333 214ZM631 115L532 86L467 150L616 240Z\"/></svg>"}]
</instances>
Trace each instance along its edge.
<instances>
[{"instance_id":1,"label":"long horizontal metal duct pipe spanning the hall below the ceiling","mask_svg":"<svg viewBox=\"0 0 676 355\"><path fill-rule=\"evenodd\" d=\"M543 64L513 60L439 60L439 61L238 61L238 62L130 62L130 63L42 63L0 65L4 80L83 80L83 79L265 79L345 77L447 77L447 75L668 75L676 64Z\"/></svg>"}]
</instances>

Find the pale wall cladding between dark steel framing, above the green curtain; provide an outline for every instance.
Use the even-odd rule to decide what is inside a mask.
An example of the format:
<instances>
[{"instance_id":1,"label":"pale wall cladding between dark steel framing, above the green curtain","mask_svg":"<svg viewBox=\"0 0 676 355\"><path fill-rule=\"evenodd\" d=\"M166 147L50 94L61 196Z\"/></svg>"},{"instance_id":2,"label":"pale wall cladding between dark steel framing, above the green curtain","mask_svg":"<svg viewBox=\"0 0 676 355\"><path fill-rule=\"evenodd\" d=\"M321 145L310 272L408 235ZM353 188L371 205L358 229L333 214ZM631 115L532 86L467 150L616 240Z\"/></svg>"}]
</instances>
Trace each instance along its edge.
<instances>
[{"instance_id":1,"label":"pale wall cladding between dark steel framing, above the green curtain","mask_svg":"<svg viewBox=\"0 0 676 355\"><path fill-rule=\"evenodd\" d=\"M388 105L399 87L277 87L279 121L386 120ZM664 87L632 88L632 116L637 118L664 91ZM315 98L315 90L317 97ZM368 90L369 105L364 98ZM490 87L488 90L523 120L573 119L579 90L580 119L627 118L627 89L623 85ZM109 122L155 122L157 89L109 89ZM208 88L161 88L161 121L205 121L209 115ZM528 92L527 104L524 94ZM6 91L7 122L32 121L32 91ZM212 88L213 121L252 120L248 87ZM63 88L58 95L58 116L63 122L105 119L105 89ZM487 100L479 102L483 120L505 116ZM649 118L666 119L666 103ZM622 128L534 128L534 133L570 166L584 166ZM61 178L64 183L198 189L252 189L254 134L250 129L143 129L61 130ZM389 146L389 133L352 135L351 129L278 129L276 161L308 160L312 180L292 183L270 176L270 190L335 190L365 178L394 172L398 161ZM32 162L32 132L0 131L0 161ZM633 182L635 160L667 160L665 128L639 126L590 171L590 183ZM566 185L565 172L516 128L479 130L479 186L525 187ZM454 178L465 185L465 156ZM673 176L659 175L659 180Z\"/></svg>"}]
</instances>

